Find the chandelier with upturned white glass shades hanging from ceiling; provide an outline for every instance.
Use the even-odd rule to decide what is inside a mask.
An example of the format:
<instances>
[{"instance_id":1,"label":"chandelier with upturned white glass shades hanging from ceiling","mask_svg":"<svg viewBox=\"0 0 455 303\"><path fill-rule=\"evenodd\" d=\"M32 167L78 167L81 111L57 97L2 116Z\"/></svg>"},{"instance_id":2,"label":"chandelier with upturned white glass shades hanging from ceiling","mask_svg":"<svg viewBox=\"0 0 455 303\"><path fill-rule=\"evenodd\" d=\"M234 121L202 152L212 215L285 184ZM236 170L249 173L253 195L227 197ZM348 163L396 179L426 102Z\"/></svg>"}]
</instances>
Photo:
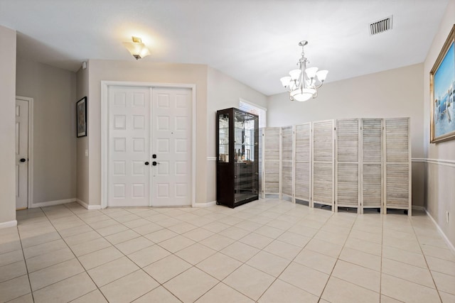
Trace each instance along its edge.
<instances>
[{"instance_id":1,"label":"chandelier with upturned white glass shades hanging from ceiling","mask_svg":"<svg viewBox=\"0 0 455 303\"><path fill-rule=\"evenodd\" d=\"M291 101L306 101L318 97L318 89L327 77L328 70L318 71L318 67L306 68L309 60L305 57L304 46L307 44L308 41L305 40L299 42L301 46L301 57L297 62L299 69L291 70L290 76L280 79L284 88L289 92Z\"/></svg>"}]
</instances>

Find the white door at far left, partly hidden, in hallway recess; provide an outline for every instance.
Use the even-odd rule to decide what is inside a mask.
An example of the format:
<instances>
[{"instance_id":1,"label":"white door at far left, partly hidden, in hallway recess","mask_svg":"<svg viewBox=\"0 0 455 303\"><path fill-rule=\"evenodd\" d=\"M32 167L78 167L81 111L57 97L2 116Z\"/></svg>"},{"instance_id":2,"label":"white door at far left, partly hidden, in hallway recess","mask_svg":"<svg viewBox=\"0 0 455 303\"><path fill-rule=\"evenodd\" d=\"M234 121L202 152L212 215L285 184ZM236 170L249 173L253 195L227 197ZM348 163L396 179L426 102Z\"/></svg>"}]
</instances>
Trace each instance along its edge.
<instances>
[{"instance_id":1,"label":"white door at far left, partly hidden, in hallway recess","mask_svg":"<svg viewBox=\"0 0 455 303\"><path fill-rule=\"evenodd\" d=\"M28 101L16 99L16 209L28 204Z\"/></svg>"}]
</instances>

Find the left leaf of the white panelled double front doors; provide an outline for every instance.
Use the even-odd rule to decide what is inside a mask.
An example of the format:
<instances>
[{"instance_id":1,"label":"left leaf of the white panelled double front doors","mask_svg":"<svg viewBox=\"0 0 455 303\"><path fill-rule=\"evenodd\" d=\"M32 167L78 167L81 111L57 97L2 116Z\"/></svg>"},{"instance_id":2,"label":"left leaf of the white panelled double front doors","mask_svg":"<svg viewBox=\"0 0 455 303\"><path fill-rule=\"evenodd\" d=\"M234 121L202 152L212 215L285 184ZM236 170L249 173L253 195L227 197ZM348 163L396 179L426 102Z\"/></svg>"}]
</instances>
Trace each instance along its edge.
<instances>
[{"instance_id":1,"label":"left leaf of the white panelled double front doors","mask_svg":"<svg viewBox=\"0 0 455 303\"><path fill-rule=\"evenodd\" d=\"M108 206L150 205L149 87L109 87Z\"/></svg>"}]
</instances>

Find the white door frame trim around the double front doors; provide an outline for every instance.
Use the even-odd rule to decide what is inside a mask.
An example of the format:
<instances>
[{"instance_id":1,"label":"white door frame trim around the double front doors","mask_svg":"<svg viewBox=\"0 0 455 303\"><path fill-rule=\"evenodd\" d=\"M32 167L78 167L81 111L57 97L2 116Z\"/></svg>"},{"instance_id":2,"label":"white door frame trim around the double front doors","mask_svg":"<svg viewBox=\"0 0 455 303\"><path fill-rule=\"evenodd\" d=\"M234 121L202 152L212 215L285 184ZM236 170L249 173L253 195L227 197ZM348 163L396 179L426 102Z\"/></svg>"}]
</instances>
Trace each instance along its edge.
<instances>
[{"instance_id":1,"label":"white door frame trim around the double front doors","mask_svg":"<svg viewBox=\"0 0 455 303\"><path fill-rule=\"evenodd\" d=\"M196 84L155 83L155 82L127 82L101 81L101 208L107 207L108 186L108 146L109 136L109 87L148 87L191 89L191 206L196 205ZM151 180L151 179L150 179ZM151 202L151 196L150 196Z\"/></svg>"}]
</instances>

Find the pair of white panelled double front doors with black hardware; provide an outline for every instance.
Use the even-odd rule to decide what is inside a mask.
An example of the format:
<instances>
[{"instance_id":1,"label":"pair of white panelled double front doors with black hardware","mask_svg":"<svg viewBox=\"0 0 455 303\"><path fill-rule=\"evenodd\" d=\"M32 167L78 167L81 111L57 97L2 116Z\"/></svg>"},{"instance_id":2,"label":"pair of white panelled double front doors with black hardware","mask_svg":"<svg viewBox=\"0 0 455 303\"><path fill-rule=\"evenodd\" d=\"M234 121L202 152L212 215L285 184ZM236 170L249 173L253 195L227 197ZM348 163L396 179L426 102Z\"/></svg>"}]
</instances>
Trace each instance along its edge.
<instances>
[{"instance_id":1,"label":"pair of white panelled double front doors with black hardware","mask_svg":"<svg viewBox=\"0 0 455 303\"><path fill-rule=\"evenodd\" d=\"M109 86L107 206L183 206L192 197L191 89Z\"/></svg>"}]
</instances>

